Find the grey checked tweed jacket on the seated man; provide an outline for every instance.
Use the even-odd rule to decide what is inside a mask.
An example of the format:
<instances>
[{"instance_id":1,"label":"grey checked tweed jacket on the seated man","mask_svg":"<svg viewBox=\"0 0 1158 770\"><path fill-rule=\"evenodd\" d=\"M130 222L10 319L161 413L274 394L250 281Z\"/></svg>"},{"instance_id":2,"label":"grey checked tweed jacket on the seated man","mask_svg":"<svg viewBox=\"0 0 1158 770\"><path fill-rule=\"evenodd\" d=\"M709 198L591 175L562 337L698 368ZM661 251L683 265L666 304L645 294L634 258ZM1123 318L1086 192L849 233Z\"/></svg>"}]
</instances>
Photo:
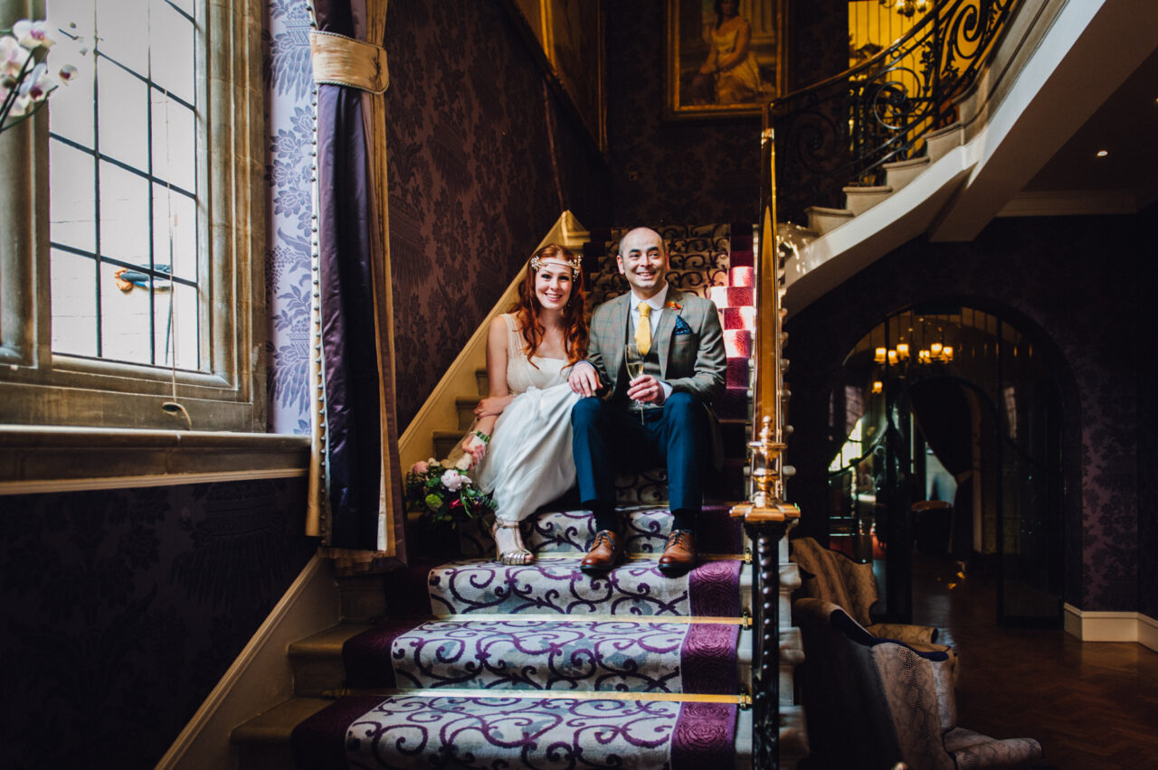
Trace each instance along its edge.
<instances>
[{"instance_id":1,"label":"grey checked tweed jacket on the seated man","mask_svg":"<svg viewBox=\"0 0 1158 770\"><path fill-rule=\"evenodd\" d=\"M609 393L613 400L623 398L628 390L623 348L630 317L631 293L628 293L601 304L591 319L587 361L595 367L600 383L608 388L604 394ZM710 405L723 392L727 357L716 303L668 287L652 348L659 353L660 379L672 386L673 393L688 392Z\"/></svg>"}]
</instances>

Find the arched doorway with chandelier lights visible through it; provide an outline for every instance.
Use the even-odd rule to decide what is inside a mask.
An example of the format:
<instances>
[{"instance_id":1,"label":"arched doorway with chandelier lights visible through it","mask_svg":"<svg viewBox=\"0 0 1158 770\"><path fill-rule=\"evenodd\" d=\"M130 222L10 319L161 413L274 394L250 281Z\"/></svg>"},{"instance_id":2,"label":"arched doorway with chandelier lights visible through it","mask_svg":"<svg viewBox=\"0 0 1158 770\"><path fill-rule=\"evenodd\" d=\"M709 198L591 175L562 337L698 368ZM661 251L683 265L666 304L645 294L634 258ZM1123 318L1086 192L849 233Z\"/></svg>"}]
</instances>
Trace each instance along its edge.
<instances>
[{"instance_id":1,"label":"arched doorway with chandelier lights visible through it","mask_svg":"<svg viewBox=\"0 0 1158 770\"><path fill-rule=\"evenodd\" d=\"M994 575L1001 622L1061 624L1062 398L1056 360L1026 326L917 305L844 360L831 414L848 438L829 466L829 533L874 558L891 620L913 620L916 549Z\"/></svg>"}]
</instances>

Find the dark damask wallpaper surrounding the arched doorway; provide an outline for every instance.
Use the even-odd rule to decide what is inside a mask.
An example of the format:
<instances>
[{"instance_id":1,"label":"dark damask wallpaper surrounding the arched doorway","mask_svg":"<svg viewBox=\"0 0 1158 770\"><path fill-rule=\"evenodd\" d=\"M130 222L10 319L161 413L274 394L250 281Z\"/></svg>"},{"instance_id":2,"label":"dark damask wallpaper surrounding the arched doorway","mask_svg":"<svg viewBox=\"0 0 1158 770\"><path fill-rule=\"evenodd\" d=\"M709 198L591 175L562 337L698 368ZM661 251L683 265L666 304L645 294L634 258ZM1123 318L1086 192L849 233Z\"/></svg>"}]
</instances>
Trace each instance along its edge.
<instances>
[{"instance_id":1,"label":"dark damask wallpaper surrounding the arched doorway","mask_svg":"<svg viewBox=\"0 0 1158 770\"><path fill-rule=\"evenodd\" d=\"M1057 513L1065 520L1064 599L1086 610L1153 616L1155 582L1143 579L1153 572L1139 556L1158 542L1146 520L1151 509L1139 504L1142 493L1153 498L1142 452L1153 445L1155 413L1149 405L1139 410L1143 380L1134 349L1152 251L1143 223L1152 214L999 219L972 243L915 240L792 316L785 354L796 432L787 451L798 474L790 498L806 511L824 510L822 494L797 496L824 488L828 390L848 351L887 313L945 298L1020 316L1064 360L1063 444L1070 489L1079 490ZM791 293L785 302L791 312Z\"/></svg>"}]
</instances>

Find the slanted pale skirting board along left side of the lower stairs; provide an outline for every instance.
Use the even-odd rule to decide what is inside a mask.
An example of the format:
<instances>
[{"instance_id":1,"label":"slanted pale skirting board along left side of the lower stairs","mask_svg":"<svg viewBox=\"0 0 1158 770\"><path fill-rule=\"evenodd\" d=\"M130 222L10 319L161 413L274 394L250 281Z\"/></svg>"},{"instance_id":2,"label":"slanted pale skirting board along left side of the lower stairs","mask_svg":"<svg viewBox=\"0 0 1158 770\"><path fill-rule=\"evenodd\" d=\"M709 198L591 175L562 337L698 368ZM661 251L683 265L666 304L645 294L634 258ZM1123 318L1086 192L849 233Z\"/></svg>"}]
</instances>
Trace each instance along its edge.
<instances>
[{"instance_id":1,"label":"slanted pale skirting board along left side of the lower stairs","mask_svg":"<svg viewBox=\"0 0 1158 770\"><path fill-rule=\"evenodd\" d=\"M155 770L232 770L233 728L293 696L286 649L339 620L331 562L314 556Z\"/></svg>"}]
</instances>

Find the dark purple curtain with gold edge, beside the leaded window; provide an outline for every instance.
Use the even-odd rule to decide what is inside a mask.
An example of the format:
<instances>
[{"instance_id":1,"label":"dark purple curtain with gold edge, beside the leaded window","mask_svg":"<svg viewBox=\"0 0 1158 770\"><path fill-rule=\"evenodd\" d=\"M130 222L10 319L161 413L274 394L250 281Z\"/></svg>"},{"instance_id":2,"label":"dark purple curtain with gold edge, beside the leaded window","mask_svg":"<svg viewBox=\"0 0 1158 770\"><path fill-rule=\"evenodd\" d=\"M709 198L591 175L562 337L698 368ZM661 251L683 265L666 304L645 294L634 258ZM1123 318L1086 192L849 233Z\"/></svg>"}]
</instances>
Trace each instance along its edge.
<instances>
[{"instance_id":1,"label":"dark purple curtain with gold edge, beside the leaded window","mask_svg":"<svg viewBox=\"0 0 1158 770\"><path fill-rule=\"evenodd\" d=\"M381 2L384 16L384 0L371 1ZM314 7L320 31L356 39L367 35L366 0L315 0ZM375 138L369 135L371 111L383 109L380 96L317 86L327 545L376 551L374 561L404 561L384 194L380 201L374 179L375 169L386 164L374 156ZM384 149L384 142L378 148ZM384 191L384 179L380 182ZM383 517L389 519L384 527ZM380 528L387 532L384 545Z\"/></svg>"}]
</instances>

